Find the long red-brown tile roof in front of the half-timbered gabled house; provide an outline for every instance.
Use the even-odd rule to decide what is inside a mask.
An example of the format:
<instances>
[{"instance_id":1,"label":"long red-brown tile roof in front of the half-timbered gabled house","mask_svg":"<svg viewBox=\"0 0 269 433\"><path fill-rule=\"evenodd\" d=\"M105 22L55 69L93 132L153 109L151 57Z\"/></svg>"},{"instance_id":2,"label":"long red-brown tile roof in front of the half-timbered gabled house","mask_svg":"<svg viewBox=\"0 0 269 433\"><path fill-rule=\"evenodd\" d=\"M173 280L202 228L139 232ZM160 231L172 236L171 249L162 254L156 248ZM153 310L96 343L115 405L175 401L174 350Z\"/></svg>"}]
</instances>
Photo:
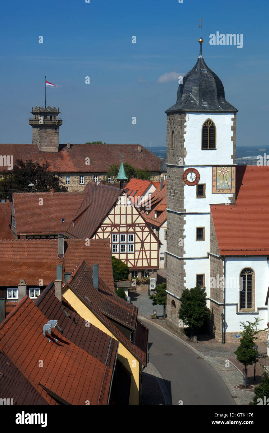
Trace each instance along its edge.
<instances>
[{"instance_id":1,"label":"long red-brown tile roof in front of the half-timbered gabled house","mask_svg":"<svg viewBox=\"0 0 269 433\"><path fill-rule=\"evenodd\" d=\"M57 239L0 241L0 286L17 286L20 279L28 286L38 286L40 278L46 286L56 279L57 265L63 264L63 272L71 273L85 259L90 265L99 263L100 277L114 291L109 239L85 243L85 239L65 239L64 257L58 259Z\"/></svg>"}]
</instances>

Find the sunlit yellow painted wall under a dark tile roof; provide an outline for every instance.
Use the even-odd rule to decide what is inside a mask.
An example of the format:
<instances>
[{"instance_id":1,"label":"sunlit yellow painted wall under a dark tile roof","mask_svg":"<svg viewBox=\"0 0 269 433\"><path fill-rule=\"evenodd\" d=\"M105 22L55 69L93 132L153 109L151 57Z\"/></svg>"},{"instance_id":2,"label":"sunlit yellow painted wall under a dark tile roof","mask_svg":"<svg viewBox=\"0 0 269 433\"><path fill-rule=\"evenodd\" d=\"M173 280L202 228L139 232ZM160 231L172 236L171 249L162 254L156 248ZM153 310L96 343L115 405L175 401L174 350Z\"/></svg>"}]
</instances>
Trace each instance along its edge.
<instances>
[{"instance_id":1,"label":"sunlit yellow painted wall under a dark tile roof","mask_svg":"<svg viewBox=\"0 0 269 433\"><path fill-rule=\"evenodd\" d=\"M111 331L92 313L91 310L89 310L88 307L83 304L82 301L80 301L79 297L77 297L70 288L66 288L66 290L63 291L63 296L66 301L72 305L74 310L83 317L83 319L89 320L92 325L118 341ZM125 346L123 346L122 343L119 344L117 359L122 362L124 367L132 374L129 404L139 405L139 361L129 352L128 349L126 349Z\"/></svg>"}]
</instances>

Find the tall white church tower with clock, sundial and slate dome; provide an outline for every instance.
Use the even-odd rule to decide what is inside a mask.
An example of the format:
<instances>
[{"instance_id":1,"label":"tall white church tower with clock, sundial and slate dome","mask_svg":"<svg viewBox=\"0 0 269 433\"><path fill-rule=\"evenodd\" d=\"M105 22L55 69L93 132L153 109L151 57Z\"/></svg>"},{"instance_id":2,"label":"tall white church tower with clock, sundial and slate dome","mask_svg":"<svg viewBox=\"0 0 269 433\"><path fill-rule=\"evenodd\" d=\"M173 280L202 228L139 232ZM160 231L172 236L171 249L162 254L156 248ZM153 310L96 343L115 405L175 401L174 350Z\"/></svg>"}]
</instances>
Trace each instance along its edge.
<instances>
[{"instance_id":1,"label":"tall white church tower with clock, sundial and slate dome","mask_svg":"<svg viewBox=\"0 0 269 433\"><path fill-rule=\"evenodd\" d=\"M177 102L167 114L167 321L183 331L178 319L185 288L206 286L214 333L222 291L210 288L212 275L223 276L210 204L235 200L236 113L225 100L222 81L202 55L179 85ZM219 295L221 293L221 295Z\"/></svg>"}]
</instances>

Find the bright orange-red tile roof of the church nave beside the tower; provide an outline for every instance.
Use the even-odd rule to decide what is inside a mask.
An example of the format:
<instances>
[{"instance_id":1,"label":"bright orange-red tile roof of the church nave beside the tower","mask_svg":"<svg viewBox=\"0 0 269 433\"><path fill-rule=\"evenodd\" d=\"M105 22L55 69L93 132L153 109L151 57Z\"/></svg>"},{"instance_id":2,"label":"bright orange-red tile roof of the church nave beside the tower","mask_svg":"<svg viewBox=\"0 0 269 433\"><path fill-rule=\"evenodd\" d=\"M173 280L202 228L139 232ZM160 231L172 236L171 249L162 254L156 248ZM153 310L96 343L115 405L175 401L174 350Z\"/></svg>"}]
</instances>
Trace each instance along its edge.
<instances>
[{"instance_id":1,"label":"bright orange-red tile roof of the church nave beside the tower","mask_svg":"<svg viewBox=\"0 0 269 433\"><path fill-rule=\"evenodd\" d=\"M221 255L269 255L269 168L237 165L236 204L210 205Z\"/></svg>"}]
</instances>

